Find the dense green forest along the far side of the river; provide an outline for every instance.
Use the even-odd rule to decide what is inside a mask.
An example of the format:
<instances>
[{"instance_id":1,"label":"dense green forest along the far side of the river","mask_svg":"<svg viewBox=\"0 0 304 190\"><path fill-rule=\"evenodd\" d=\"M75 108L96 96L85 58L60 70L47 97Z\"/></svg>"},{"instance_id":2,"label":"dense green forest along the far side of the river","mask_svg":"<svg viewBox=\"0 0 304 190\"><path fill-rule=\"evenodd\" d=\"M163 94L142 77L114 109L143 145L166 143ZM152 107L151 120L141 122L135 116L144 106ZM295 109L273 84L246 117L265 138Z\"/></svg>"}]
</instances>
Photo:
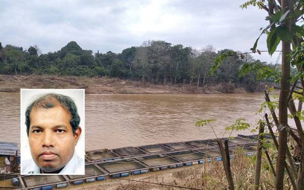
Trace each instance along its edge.
<instances>
[{"instance_id":1,"label":"dense green forest along the far side of the river","mask_svg":"<svg viewBox=\"0 0 304 190\"><path fill-rule=\"evenodd\" d=\"M85 75L88 77L107 75L111 78L129 79L155 84L206 84L232 83L254 91L259 81L255 74L239 78L238 67L244 62L267 64L254 60L251 55L234 55L224 60L214 75L210 75L212 61L219 54L208 45L196 50L183 45L172 45L165 41L146 41L139 47L130 47L116 54L111 51L93 54L71 41L57 52L41 54L37 46L27 50L22 47L0 43L0 74L57 74Z\"/></svg>"}]
</instances>

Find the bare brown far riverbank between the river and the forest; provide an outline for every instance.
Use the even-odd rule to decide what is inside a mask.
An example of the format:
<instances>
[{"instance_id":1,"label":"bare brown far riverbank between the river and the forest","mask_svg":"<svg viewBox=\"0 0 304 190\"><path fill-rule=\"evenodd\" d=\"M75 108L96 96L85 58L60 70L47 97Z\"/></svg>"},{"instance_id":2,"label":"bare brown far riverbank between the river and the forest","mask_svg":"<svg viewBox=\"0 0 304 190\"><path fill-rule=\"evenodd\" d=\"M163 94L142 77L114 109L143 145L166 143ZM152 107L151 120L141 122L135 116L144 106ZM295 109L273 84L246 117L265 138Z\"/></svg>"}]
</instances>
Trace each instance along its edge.
<instances>
[{"instance_id":1,"label":"bare brown far riverbank between the river and the forest","mask_svg":"<svg viewBox=\"0 0 304 190\"><path fill-rule=\"evenodd\" d=\"M55 75L0 75L0 92L19 92L20 88L86 89L87 94L221 94L245 93L231 83L205 85L155 85L118 78L58 77Z\"/></svg>"}]
</instances>

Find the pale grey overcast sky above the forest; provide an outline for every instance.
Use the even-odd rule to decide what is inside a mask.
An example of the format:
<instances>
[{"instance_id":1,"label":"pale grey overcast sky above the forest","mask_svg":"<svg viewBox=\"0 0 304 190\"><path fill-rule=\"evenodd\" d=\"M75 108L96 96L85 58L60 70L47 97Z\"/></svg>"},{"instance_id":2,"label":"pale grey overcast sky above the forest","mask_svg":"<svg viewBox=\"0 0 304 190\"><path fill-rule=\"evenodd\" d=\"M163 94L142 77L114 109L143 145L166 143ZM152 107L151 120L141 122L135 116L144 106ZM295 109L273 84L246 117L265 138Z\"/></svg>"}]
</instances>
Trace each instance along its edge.
<instances>
[{"instance_id":1,"label":"pale grey overcast sky above the forest","mask_svg":"<svg viewBox=\"0 0 304 190\"><path fill-rule=\"evenodd\" d=\"M247 52L268 21L257 7L242 10L244 2L0 0L0 42L24 49L37 45L42 53L58 51L70 41L93 52L121 53L147 40ZM265 36L257 48L267 50ZM269 63L278 58L276 53L253 56Z\"/></svg>"}]
</instances>

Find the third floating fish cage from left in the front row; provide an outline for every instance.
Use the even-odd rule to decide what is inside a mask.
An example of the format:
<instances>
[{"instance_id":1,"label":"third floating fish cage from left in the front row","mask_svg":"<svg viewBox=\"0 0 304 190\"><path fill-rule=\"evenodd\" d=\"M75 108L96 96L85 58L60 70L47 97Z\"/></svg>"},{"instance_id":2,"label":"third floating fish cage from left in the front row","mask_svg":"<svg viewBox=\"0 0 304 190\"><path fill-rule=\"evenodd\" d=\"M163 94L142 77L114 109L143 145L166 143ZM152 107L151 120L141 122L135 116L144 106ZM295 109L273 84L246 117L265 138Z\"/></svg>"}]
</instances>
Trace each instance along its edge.
<instances>
[{"instance_id":1,"label":"third floating fish cage from left in the front row","mask_svg":"<svg viewBox=\"0 0 304 190\"><path fill-rule=\"evenodd\" d=\"M134 174L134 172L135 174L139 174L138 171L140 171L140 173L147 171L147 167L135 161L134 159L105 162L97 165L104 171L108 172L111 178L126 177L130 174Z\"/></svg>"}]
</instances>

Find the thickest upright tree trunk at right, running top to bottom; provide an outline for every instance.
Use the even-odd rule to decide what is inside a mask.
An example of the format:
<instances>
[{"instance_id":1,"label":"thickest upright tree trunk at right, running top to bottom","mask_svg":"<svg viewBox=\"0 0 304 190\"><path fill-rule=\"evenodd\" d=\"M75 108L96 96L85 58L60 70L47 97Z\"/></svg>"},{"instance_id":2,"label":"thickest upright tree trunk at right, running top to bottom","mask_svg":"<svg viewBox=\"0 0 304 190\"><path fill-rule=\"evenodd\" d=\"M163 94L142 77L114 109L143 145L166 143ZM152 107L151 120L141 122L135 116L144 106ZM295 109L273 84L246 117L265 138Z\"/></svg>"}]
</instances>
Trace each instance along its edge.
<instances>
[{"instance_id":1,"label":"thickest upright tree trunk at right, running top to bottom","mask_svg":"<svg viewBox=\"0 0 304 190\"><path fill-rule=\"evenodd\" d=\"M282 9L284 13L291 8L290 0L282 0ZM290 29L290 21L287 19L283 23ZM289 74L290 74L290 59L288 57L288 52L290 52L290 41L282 41L282 78L281 78L281 90L279 97L279 149L277 157L277 176L276 176L276 189L283 189L284 181L284 169L285 169L285 159L287 150L287 107L288 107L288 95L289 95Z\"/></svg>"}]
</instances>

